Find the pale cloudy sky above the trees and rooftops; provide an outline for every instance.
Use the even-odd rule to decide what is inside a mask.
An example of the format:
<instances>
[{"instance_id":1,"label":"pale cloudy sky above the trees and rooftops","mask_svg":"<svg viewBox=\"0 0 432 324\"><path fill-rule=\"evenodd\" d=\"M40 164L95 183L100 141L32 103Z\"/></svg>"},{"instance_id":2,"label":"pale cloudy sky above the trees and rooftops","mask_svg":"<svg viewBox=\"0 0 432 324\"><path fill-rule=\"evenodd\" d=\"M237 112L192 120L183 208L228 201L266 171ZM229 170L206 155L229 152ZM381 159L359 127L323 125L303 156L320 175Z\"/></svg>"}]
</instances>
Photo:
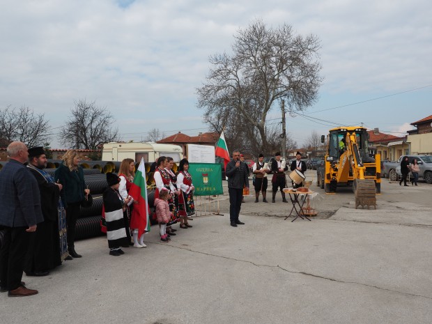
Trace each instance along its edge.
<instances>
[{"instance_id":1,"label":"pale cloudy sky above the trees and rooftops","mask_svg":"<svg viewBox=\"0 0 432 324\"><path fill-rule=\"evenodd\" d=\"M404 136L432 114L431 17L426 0L2 0L0 109L45 114L52 148L81 99L111 111L124 141L195 136L208 130L196 88L209 56L261 19L321 40L318 100L286 118L298 146L337 125Z\"/></svg>"}]
</instances>

